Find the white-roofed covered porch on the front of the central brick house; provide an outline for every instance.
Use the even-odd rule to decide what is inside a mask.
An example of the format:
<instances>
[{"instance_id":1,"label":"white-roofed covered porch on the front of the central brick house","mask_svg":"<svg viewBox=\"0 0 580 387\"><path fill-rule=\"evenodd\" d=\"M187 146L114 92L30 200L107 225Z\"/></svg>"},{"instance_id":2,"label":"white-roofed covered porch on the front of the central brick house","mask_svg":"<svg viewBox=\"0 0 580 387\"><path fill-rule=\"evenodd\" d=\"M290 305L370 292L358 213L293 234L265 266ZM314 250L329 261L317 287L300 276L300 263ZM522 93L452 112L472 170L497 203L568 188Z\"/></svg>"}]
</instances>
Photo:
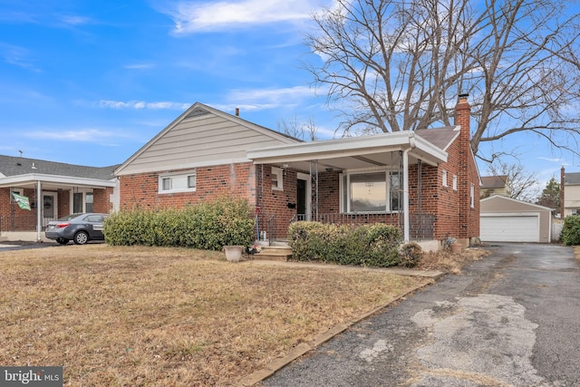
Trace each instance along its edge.
<instances>
[{"instance_id":1,"label":"white-roofed covered porch on the front of the central brick house","mask_svg":"<svg viewBox=\"0 0 580 387\"><path fill-rule=\"evenodd\" d=\"M441 134L448 143L458 133L444 128ZM416 132L304 142L251 150L247 156L261 182L260 224L272 239L284 237L288 225L301 220L390 224L401 227L405 241L435 237L437 212L425 185L436 184L438 166L448 154ZM276 208L274 197L285 199L290 211Z\"/></svg>"}]
</instances>

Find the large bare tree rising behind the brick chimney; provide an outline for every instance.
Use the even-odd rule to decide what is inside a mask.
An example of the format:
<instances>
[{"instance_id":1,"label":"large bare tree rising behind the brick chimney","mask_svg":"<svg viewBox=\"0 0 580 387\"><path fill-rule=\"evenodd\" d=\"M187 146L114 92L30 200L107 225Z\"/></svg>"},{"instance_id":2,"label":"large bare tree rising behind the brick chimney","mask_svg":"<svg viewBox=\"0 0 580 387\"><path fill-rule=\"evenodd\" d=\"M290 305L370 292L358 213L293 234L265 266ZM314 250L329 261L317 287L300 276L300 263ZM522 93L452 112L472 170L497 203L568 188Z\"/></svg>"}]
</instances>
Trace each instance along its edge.
<instances>
[{"instance_id":1,"label":"large bare tree rising behind the brick chimney","mask_svg":"<svg viewBox=\"0 0 580 387\"><path fill-rule=\"evenodd\" d=\"M517 133L579 153L580 14L553 0L336 0L306 63L351 132L449 125L470 94L471 147ZM493 161L495 155L478 157Z\"/></svg>"}]
</instances>

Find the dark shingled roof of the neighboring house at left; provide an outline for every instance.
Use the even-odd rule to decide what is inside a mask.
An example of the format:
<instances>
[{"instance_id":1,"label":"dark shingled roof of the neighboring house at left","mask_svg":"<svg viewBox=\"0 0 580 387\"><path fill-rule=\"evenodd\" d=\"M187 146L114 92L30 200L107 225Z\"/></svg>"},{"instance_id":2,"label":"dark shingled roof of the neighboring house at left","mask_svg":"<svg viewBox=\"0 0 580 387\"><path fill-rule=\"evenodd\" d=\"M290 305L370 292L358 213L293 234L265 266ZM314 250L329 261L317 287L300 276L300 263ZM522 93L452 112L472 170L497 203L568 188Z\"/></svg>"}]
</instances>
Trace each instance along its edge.
<instances>
[{"instance_id":1,"label":"dark shingled roof of the neighboring house at left","mask_svg":"<svg viewBox=\"0 0 580 387\"><path fill-rule=\"evenodd\" d=\"M117 165L110 167L85 167L63 162L0 155L0 178L34 173L82 179L110 180L113 179L112 171L117 167Z\"/></svg>"}]
</instances>

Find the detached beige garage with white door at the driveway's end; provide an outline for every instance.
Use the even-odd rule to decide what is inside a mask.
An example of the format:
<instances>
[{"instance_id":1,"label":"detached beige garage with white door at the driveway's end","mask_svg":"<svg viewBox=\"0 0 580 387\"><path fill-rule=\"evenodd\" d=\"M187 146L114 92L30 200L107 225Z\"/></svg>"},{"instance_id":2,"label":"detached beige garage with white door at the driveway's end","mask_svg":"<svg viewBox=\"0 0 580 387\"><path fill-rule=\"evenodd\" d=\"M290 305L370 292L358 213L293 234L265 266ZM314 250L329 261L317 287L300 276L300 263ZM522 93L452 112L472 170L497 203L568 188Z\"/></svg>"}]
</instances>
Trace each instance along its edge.
<instances>
[{"instance_id":1,"label":"detached beige garage with white door at the driveway's end","mask_svg":"<svg viewBox=\"0 0 580 387\"><path fill-rule=\"evenodd\" d=\"M483 242L550 242L552 208L499 195L482 198L479 203Z\"/></svg>"}]
</instances>

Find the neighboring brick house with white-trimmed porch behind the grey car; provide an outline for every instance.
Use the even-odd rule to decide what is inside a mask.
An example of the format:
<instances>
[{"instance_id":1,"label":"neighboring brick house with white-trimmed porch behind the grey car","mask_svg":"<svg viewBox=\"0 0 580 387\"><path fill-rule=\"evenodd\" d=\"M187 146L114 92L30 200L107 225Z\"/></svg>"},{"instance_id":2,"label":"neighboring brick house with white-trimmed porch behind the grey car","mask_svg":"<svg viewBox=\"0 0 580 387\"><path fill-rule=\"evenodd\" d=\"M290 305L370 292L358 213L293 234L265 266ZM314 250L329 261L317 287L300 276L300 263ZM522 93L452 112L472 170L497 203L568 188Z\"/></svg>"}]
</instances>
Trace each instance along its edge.
<instances>
[{"instance_id":1,"label":"neighboring brick house with white-trimmed porch behind the grey car","mask_svg":"<svg viewBox=\"0 0 580 387\"><path fill-rule=\"evenodd\" d=\"M38 241L53 219L119 208L117 179L112 174L117 167L0 156L0 240ZM30 210L20 208L13 193L27 198Z\"/></svg>"}]
</instances>

